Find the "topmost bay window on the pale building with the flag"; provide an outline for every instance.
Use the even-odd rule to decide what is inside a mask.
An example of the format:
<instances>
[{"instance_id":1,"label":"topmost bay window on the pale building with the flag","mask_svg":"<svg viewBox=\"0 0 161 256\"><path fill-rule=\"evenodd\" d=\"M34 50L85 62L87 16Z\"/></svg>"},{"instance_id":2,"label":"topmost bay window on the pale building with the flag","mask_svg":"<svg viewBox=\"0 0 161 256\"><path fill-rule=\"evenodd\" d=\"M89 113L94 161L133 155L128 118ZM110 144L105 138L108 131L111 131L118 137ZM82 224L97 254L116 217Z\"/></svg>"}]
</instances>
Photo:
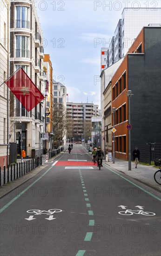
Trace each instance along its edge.
<instances>
[{"instance_id":1,"label":"topmost bay window on the pale building with the flag","mask_svg":"<svg viewBox=\"0 0 161 256\"><path fill-rule=\"evenodd\" d=\"M28 8L23 6L16 7L16 26L17 28L29 28Z\"/></svg>"}]
</instances>

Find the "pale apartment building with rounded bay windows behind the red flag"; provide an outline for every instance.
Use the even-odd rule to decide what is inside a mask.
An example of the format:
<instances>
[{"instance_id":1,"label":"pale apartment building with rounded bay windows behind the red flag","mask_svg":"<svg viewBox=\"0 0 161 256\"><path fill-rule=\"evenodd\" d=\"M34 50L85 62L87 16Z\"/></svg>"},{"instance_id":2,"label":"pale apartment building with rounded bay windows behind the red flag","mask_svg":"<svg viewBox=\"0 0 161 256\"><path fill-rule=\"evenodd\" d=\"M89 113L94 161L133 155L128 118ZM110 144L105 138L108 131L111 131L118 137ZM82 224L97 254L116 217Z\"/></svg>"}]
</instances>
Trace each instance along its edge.
<instances>
[{"instance_id":1,"label":"pale apartment building with rounded bay windows behind the red flag","mask_svg":"<svg viewBox=\"0 0 161 256\"><path fill-rule=\"evenodd\" d=\"M21 66L40 92L45 94L43 35L34 0L10 0L10 4L10 74ZM28 112L10 92L11 142L17 144L18 156L21 149L26 151L27 156L31 156L32 149L39 155L44 117L44 100Z\"/></svg>"}]
</instances>

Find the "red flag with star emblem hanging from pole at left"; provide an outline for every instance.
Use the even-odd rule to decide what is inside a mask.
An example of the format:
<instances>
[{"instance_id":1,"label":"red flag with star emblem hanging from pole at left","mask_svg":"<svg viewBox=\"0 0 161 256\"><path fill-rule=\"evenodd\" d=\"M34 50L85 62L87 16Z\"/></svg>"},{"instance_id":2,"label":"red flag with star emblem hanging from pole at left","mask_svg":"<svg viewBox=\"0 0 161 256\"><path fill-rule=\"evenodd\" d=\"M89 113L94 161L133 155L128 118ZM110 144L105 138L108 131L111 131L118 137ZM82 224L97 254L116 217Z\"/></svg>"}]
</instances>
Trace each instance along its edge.
<instances>
[{"instance_id":1,"label":"red flag with star emblem hanging from pole at left","mask_svg":"<svg viewBox=\"0 0 161 256\"><path fill-rule=\"evenodd\" d=\"M18 69L5 83L27 111L32 110L44 99L44 95L22 68Z\"/></svg>"}]
</instances>

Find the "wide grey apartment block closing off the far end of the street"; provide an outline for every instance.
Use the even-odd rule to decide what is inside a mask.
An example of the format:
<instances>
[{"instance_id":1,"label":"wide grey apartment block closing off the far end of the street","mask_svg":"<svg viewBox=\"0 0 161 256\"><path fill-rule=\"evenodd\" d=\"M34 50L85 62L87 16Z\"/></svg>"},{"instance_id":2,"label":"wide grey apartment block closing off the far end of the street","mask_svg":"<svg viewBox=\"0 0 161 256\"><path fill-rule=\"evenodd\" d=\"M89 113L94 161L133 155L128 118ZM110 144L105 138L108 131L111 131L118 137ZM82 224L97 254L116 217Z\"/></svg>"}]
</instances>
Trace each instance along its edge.
<instances>
[{"instance_id":1,"label":"wide grey apartment block closing off the far end of the street","mask_svg":"<svg viewBox=\"0 0 161 256\"><path fill-rule=\"evenodd\" d=\"M82 135L92 132L92 117L99 117L98 105L93 103L74 103L67 102L67 113L70 120L68 139L74 138L75 141L81 141Z\"/></svg>"}]
</instances>

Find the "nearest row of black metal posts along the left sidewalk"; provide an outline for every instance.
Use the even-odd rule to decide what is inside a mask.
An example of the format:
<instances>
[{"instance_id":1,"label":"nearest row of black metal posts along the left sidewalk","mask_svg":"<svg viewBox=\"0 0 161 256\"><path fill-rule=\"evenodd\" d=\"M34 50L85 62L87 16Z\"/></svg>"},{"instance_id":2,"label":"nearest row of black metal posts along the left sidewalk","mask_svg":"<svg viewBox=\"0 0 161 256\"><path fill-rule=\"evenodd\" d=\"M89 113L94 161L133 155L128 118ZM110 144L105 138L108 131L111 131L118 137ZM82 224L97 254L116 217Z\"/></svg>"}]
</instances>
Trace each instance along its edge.
<instances>
[{"instance_id":1,"label":"nearest row of black metal posts along the left sidewalk","mask_svg":"<svg viewBox=\"0 0 161 256\"><path fill-rule=\"evenodd\" d=\"M26 175L36 167L42 165L42 156L35 157L30 160L24 160L24 162L14 163L11 166L3 166L3 173L1 173L0 167L0 187L8 182L17 180L19 177ZM1 179L1 175L3 176Z\"/></svg>"}]
</instances>

